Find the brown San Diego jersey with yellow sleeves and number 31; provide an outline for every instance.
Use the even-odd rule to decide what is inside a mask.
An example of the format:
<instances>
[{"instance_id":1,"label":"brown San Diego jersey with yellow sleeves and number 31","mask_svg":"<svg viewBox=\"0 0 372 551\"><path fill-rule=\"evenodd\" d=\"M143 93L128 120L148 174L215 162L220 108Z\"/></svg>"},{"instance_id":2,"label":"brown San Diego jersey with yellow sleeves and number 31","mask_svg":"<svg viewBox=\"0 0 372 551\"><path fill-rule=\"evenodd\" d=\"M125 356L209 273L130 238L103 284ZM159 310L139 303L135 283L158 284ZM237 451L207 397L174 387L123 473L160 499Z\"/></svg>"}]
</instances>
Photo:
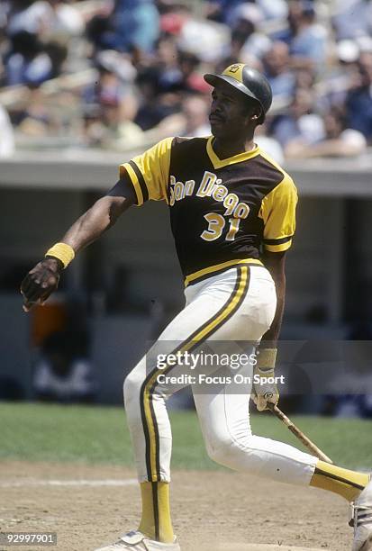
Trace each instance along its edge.
<instances>
[{"instance_id":1,"label":"brown San Diego jersey with yellow sleeves and number 31","mask_svg":"<svg viewBox=\"0 0 372 551\"><path fill-rule=\"evenodd\" d=\"M220 159L209 138L168 138L120 167L137 205L168 203L186 285L240 263L261 264L263 249L290 248L295 184L255 146Z\"/></svg>"}]
</instances>

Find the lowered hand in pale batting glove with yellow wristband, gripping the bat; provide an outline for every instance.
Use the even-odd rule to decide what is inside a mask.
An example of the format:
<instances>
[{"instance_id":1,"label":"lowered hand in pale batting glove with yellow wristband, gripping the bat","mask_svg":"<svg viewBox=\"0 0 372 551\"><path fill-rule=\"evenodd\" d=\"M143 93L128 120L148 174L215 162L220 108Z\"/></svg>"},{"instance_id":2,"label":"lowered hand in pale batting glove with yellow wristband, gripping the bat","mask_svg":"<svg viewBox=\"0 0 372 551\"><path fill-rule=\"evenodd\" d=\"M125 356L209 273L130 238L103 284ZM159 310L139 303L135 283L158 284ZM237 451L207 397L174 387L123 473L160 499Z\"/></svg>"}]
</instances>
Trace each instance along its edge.
<instances>
[{"instance_id":1,"label":"lowered hand in pale batting glove with yellow wristband, gripping the bat","mask_svg":"<svg viewBox=\"0 0 372 551\"><path fill-rule=\"evenodd\" d=\"M268 410L268 402L277 403L279 401L279 391L277 384L268 382L268 379L275 377L275 361L277 357L277 348L261 348L257 356L257 364L254 367L254 381L259 379L258 383L253 383L252 399L259 411Z\"/></svg>"}]
</instances>

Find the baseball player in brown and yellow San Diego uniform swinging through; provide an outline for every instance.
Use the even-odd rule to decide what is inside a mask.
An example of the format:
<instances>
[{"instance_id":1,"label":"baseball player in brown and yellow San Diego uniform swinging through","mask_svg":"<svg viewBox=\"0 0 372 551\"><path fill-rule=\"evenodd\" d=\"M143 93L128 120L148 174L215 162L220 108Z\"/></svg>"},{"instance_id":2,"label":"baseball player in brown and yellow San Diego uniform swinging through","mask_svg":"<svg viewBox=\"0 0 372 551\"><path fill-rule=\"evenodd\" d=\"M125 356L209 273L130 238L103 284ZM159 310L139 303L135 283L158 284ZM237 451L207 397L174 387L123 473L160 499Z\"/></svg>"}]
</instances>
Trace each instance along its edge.
<instances>
[{"instance_id":1,"label":"baseball player in brown and yellow San Diego uniform swinging through","mask_svg":"<svg viewBox=\"0 0 372 551\"><path fill-rule=\"evenodd\" d=\"M237 471L338 493L353 504L352 550L370 550L372 483L367 474L251 433L250 393L259 411L278 401L277 386L268 377L276 363L297 194L291 177L254 142L272 100L266 78L244 64L204 78L213 86L212 136L162 140L124 163L113 189L73 224L22 283L27 312L57 288L75 254L132 204L168 203L186 306L125 380L142 516L137 530L100 551L180 549L170 519L172 440L166 401L187 384L182 377L190 374L190 367L181 361L186 353L206 345L221 351L229 343L235 350L233 343L240 341L252 347L261 342L257 363L239 367L246 381L243 389L229 388L230 366L206 368L215 382L205 392L193 384L208 454ZM161 368L160 353L167 358Z\"/></svg>"}]
</instances>

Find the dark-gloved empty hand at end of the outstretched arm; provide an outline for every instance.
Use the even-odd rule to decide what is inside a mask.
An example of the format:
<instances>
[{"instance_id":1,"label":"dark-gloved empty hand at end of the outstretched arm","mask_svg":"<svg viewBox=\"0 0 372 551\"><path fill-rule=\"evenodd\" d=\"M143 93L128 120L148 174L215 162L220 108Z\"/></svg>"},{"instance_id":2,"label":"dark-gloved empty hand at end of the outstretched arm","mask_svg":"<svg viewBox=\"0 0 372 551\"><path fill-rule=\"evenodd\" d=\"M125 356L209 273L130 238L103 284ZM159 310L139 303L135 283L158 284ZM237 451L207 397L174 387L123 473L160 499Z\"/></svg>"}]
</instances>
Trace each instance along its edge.
<instances>
[{"instance_id":1,"label":"dark-gloved empty hand at end of the outstretched arm","mask_svg":"<svg viewBox=\"0 0 372 551\"><path fill-rule=\"evenodd\" d=\"M58 288L62 269L57 258L44 258L32 268L21 284L24 312L29 312L35 304L45 303Z\"/></svg>"}]
</instances>

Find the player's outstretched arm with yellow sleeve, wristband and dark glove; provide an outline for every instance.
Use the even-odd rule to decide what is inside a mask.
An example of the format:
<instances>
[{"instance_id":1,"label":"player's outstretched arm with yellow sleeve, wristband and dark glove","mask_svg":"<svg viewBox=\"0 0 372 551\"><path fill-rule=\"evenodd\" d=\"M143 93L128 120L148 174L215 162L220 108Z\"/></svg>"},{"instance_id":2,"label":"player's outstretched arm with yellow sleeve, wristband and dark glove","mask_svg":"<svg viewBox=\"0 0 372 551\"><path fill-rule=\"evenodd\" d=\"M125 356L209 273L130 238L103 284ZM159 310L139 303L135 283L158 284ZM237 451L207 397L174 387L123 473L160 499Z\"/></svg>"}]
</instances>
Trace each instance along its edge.
<instances>
[{"instance_id":1,"label":"player's outstretched arm with yellow sleeve, wristband and dark glove","mask_svg":"<svg viewBox=\"0 0 372 551\"><path fill-rule=\"evenodd\" d=\"M120 180L113 189L80 216L61 241L32 268L21 285L25 312L35 303L44 303L48 299L59 285L63 268L68 266L75 254L111 228L132 204L141 206L149 199L168 199L172 141L172 138L161 140L142 155L121 165Z\"/></svg>"}]
</instances>

